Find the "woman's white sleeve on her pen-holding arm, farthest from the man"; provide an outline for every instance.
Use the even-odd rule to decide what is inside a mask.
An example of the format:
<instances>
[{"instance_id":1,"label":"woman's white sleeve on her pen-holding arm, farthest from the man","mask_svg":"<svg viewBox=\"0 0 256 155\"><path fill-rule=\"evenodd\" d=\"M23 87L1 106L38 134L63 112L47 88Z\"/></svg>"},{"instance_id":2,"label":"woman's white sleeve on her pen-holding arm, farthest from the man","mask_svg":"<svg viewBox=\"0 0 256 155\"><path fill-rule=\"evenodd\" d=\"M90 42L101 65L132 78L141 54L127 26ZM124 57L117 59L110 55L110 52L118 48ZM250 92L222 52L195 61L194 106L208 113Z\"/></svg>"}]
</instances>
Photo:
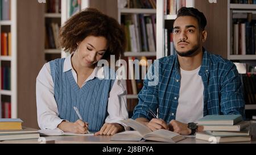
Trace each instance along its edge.
<instances>
[{"instance_id":1,"label":"woman's white sleeve on her pen-holding arm, farthest from the man","mask_svg":"<svg viewBox=\"0 0 256 155\"><path fill-rule=\"evenodd\" d=\"M38 125L41 129L55 129L63 121L63 119L59 118L53 86L51 69L48 62L44 64L36 78L36 106Z\"/></svg>"}]
</instances>

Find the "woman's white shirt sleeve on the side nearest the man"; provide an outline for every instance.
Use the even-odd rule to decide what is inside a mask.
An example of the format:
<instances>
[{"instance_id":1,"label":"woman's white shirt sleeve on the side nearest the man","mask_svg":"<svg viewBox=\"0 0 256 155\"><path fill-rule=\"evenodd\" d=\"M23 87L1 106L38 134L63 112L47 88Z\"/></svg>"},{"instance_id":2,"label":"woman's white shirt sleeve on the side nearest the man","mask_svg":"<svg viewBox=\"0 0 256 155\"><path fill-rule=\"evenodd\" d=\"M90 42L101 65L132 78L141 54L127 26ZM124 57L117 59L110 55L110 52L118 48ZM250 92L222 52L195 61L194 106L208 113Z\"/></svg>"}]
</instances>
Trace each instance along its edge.
<instances>
[{"instance_id":1,"label":"woman's white shirt sleeve on the side nearest the man","mask_svg":"<svg viewBox=\"0 0 256 155\"><path fill-rule=\"evenodd\" d=\"M125 89L125 80L115 79L112 90L109 93L108 100L108 116L105 120L106 123L118 123L120 120L128 119L128 110L126 103L126 89ZM123 124L122 124L123 125ZM126 130L127 128L123 125Z\"/></svg>"}]
</instances>

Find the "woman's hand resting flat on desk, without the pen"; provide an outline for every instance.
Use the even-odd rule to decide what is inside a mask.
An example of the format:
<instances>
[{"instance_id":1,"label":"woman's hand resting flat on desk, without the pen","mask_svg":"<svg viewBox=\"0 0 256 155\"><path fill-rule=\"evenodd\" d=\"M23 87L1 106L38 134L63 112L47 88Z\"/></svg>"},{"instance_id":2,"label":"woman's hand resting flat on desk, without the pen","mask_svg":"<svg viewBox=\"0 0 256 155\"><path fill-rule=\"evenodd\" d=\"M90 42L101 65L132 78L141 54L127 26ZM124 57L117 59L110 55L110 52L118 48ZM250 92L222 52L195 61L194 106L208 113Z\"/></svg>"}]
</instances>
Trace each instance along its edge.
<instances>
[{"instance_id":1,"label":"woman's hand resting flat on desk, without the pen","mask_svg":"<svg viewBox=\"0 0 256 155\"><path fill-rule=\"evenodd\" d=\"M122 125L118 123L105 123L102 127L101 130L96 132L94 135L114 135L117 132L123 131L124 128Z\"/></svg>"}]
</instances>

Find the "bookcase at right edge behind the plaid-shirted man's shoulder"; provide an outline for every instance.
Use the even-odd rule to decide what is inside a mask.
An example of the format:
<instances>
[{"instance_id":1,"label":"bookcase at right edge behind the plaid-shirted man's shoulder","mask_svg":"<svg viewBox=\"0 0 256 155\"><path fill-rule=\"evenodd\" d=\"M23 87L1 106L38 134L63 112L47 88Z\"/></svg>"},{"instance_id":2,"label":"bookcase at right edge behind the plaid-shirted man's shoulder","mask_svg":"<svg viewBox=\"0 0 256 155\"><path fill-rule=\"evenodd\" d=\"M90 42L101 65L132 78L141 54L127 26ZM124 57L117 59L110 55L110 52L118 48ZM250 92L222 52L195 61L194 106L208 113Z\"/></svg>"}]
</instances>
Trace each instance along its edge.
<instances>
[{"instance_id":1,"label":"bookcase at right edge behind the plaid-shirted man's shoulder","mask_svg":"<svg viewBox=\"0 0 256 155\"><path fill-rule=\"evenodd\" d=\"M256 1L228 0L227 5L228 59L242 66L246 118L251 119L256 115Z\"/></svg>"}]
</instances>

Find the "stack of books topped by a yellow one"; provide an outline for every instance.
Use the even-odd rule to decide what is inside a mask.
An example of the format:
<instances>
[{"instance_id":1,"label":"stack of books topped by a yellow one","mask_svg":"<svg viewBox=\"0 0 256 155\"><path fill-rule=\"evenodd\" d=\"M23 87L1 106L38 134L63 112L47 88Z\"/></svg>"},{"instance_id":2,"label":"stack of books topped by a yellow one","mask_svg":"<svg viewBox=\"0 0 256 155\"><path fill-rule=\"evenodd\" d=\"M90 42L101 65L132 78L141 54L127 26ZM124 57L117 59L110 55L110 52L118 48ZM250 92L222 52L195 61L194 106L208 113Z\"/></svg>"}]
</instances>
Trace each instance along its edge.
<instances>
[{"instance_id":1,"label":"stack of books topped by a yellow one","mask_svg":"<svg viewBox=\"0 0 256 155\"><path fill-rule=\"evenodd\" d=\"M38 129L22 127L20 119L0 119L0 141L39 139Z\"/></svg>"}]
</instances>

